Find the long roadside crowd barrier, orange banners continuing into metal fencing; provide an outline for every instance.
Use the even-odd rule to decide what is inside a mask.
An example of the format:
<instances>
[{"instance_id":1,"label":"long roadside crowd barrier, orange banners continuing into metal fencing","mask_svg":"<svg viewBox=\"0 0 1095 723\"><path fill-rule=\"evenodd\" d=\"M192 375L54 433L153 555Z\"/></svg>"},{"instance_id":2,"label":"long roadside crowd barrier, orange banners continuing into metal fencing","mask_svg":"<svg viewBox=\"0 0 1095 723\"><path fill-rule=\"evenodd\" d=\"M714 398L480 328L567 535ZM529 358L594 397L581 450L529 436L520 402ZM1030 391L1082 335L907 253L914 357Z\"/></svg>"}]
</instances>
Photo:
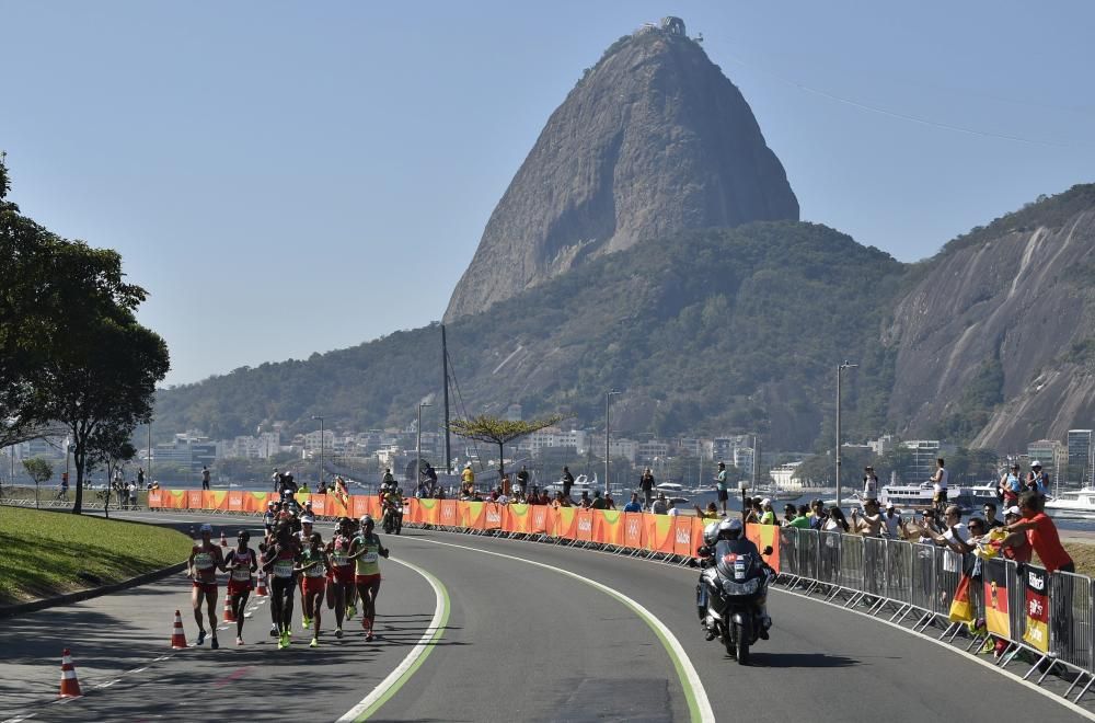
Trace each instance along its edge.
<instances>
[{"instance_id":1,"label":"long roadside crowd barrier, orange banners continuing into metal fencing","mask_svg":"<svg viewBox=\"0 0 1095 723\"><path fill-rule=\"evenodd\" d=\"M377 495L295 497L301 505L311 502L318 517L370 514L380 519ZM273 492L153 490L148 504L262 515L268 502L278 500ZM705 524L692 516L456 500L411 498L404 509L410 526L596 547L679 564L692 562ZM1095 684L1095 581L1087 576L889 538L768 525L747 525L746 535L760 549L772 548L769 563L794 592L863 607L919 632L942 629L940 638L950 642L965 631L967 650L1002 641L996 665L1006 667L1026 652L1034 662L1023 677L1040 670L1039 684L1054 670L1071 670L1063 695L1076 691L1077 701Z\"/></svg>"}]
</instances>

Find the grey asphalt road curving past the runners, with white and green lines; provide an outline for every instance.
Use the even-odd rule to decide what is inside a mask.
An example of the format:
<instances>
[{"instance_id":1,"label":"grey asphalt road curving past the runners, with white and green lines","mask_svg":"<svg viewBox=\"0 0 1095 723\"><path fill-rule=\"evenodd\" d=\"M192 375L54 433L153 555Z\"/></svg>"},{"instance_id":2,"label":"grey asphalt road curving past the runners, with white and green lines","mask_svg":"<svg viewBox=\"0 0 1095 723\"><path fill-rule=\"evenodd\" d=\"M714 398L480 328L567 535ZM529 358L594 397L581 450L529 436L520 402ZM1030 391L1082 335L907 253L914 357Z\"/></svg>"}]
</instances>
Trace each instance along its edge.
<instances>
[{"instance_id":1,"label":"grey asphalt road curving past the runners, with white and green lines","mask_svg":"<svg viewBox=\"0 0 1095 723\"><path fill-rule=\"evenodd\" d=\"M184 529L210 521L230 538L241 524L255 524L189 514L129 516ZM330 531L328 524L319 527ZM374 643L348 626L342 641L328 635L321 649L309 650L298 633L292 649L279 652L265 636L269 613L260 606L247 623L246 646L232 645L234 633L226 631L219 651L206 643L172 654L168 639L176 608L191 643L195 636L186 581L176 577L7 621L0 629L0 720L27 713L36 721L336 720L429 636L438 607L434 589L395 560L440 581L449 616L420 667L370 720L680 721L702 712L694 700L690 708L698 688L717 720L808 714L843 723L879 716L920 723L1003 711L1039 723L1081 719L936 644L794 595L772 595L772 640L756 649L751 666L741 667L716 642L703 640L691 606L694 571L437 531L383 537L393 560L383 564ZM655 631L658 622L683 646L698 686L675 665L671 645ZM66 646L90 695L49 703Z\"/></svg>"}]
</instances>

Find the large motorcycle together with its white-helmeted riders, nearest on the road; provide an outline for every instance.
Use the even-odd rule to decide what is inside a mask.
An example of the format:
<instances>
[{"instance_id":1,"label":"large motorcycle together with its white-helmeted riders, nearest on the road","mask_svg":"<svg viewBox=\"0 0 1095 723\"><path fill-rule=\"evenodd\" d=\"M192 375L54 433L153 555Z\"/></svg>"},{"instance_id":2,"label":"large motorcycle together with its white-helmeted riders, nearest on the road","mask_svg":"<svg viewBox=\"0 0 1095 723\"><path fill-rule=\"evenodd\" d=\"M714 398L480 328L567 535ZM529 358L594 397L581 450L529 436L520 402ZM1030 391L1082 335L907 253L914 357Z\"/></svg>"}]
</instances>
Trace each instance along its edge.
<instances>
[{"instance_id":1,"label":"large motorcycle together with its white-helmeted riders, nearest on the road","mask_svg":"<svg viewBox=\"0 0 1095 723\"><path fill-rule=\"evenodd\" d=\"M696 611L707 640L718 638L739 665L749 663L749 649L768 640L772 626L765 609L774 571L757 546L745 539L740 519L712 523L704 528L696 584ZM764 548L763 554L771 554Z\"/></svg>"}]
</instances>

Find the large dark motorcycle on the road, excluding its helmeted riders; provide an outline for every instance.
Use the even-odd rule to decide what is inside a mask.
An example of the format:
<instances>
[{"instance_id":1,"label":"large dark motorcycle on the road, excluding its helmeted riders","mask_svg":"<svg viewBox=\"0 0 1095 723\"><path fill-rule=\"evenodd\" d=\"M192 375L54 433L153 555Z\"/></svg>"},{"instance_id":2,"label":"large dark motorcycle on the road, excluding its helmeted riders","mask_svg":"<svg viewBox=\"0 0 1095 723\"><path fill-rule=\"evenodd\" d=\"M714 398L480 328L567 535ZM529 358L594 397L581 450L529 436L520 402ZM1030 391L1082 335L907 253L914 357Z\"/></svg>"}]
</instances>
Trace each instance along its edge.
<instances>
[{"instance_id":1,"label":"large dark motorcycle on the road, excluding its helmeted riders","mask_svg":"<svg viewBox=\"0 0 1095 723\"><path fill-rule=\"evenodd\" d=\"M762 554L772 554L772 548ZM749 649L766 631L759 600L768 592L772 570L752 553L733 552L718 560L701 558L700 567L696 610L707 629L707 640L718 638L727 655L739 665L748 665Z\"/></svg>"}]
</instances>

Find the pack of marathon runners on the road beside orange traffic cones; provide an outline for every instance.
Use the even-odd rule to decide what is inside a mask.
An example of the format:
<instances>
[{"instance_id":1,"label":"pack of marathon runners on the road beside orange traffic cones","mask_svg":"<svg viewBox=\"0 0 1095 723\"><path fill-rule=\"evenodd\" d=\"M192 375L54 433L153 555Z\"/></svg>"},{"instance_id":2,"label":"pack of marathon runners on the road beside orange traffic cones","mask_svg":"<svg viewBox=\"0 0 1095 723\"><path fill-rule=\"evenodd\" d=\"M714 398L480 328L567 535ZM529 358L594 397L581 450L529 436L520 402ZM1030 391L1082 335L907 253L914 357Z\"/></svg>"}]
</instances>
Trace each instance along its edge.
<instances>
[{"instance_id":1,"label":"pack of marathon runners on the road beside orange traffic cones","mask_svg":"<svg viewBox=\"0 0 1095 723\"><path fill-rule=\"evenodd\" d=\"M297 589L301 598L301 624L311 631L311 647L320 646L323 604L335 613L335 638L343 636L343 623L357 615L361 602L361 628L366 641L373 640L377 595L380 592L380 558L389 551L374 532L376 521L365 515L360 520L343 517L331 539L324 543L315 531L310 515L297 517L283 512L267 521L266 536L257 552L250 547L251 533L240 530L237 546L222 548L212 542L212 527L203 525L201 541L193 547L187 560L187 574L193 581L191 602L198 626L197 644L210 634L210 646L217 641L217 573L228 573L227 595L235 618L235 644L243 645L244 611L260 571L269 579L270 638L278 640L278 650L289 647L292 636L292 613ZM227 552L226 552L227 549ZM209 631L201 615L207 606Z\"/></svg>"}]
</instances>

